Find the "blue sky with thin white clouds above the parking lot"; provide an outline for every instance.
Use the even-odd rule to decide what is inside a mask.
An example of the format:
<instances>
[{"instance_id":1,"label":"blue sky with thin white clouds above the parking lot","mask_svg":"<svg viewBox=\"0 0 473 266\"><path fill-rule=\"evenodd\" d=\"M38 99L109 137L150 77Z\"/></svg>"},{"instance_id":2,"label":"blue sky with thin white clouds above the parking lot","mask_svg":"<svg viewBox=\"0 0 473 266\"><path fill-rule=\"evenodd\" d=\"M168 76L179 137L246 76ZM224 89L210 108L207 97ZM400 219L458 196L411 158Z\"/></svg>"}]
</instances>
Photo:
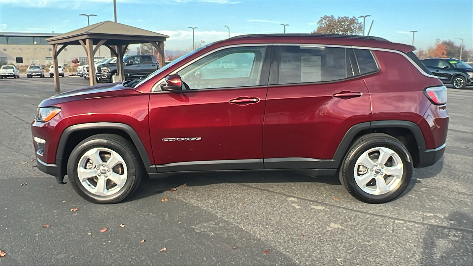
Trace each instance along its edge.
<instances>
[{"instance_id":1,"label":"blue sky with thin white clouds above the parking lot","mask_svg":"<svg viewBox=\"0 0 473 266\"><path fill-rule=\"evenodd\" d=\"M90 23L114 20L113 0L0 0L0 31L65 33ZM427 48L436 38L464 39L473 48L472 0L117 0L118 22L169 35L166 49L185 50L195 40L228 36L310 33L324 15L367 18L366 32L392 42Z\"/></svg>"}]
</instances>

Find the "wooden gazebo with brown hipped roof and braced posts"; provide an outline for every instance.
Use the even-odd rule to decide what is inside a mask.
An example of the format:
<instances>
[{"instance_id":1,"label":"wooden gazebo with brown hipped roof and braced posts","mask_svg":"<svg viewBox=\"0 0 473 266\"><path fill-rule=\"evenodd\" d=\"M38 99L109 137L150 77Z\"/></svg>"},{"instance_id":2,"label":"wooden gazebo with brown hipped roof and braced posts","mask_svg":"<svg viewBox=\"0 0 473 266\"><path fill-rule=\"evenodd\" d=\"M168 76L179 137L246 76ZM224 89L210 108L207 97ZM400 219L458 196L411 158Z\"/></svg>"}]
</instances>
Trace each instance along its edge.
<instances>
[{"instance_id":1,"label":"wooden gazebo with brown hipped roof and braced posts","mask_svg":"<svg viewBox=\"0 0 473 266\"><path fill-rule=\"evenodd\" d=\"M152 44L158 51L158 62L161 68L164 66L164 42L166 38L169 38L169 36L121 23L104 21L48 38L46 41L53 45L54 73L58 73L58 54L68 45L82 45L88 57L90 86L93 86L96 85L94 55L101 45L105 45L117 57L118 76L123 81L123 54L128 45ZM58 49L60 44L62 46ZM54 87L56 93L61 91L59 75L54 75Z\"/></svg>"}]
</instances>

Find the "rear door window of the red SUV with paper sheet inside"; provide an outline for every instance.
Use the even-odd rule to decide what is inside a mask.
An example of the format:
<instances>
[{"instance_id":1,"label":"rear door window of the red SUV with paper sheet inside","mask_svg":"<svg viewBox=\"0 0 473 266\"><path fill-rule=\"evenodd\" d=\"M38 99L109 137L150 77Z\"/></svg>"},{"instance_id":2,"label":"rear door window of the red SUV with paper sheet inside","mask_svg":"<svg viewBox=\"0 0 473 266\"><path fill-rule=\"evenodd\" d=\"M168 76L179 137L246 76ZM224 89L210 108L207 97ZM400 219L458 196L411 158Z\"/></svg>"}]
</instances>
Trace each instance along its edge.
<instances>
[{"instance_id":1,"label":"rear door window of the red SUV with paper sheet inside","mask_svg":"<svg viewBox=\"0 0 473 266\"><path fill-rule=\"evenodd\" d=\"M278 57L278 84L342 80L353 76L345 48L281 46Z\"/></svg>"}]
</instances>

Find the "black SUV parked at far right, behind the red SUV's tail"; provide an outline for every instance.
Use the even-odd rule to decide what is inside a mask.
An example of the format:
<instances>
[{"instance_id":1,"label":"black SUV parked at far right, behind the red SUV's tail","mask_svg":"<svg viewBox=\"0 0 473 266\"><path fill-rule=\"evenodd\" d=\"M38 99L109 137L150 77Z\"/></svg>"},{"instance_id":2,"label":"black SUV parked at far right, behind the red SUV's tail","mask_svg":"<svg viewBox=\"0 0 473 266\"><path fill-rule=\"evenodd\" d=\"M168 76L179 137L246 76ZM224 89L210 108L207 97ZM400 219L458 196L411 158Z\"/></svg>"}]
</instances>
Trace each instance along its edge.
<instances>
[{"instance_id":1,"label":"black SUV parked at far right, behind the red SUV's tail","mask_svg":"<svg viewBox=\"0 0 473 266\"><path fill-rule=\"evenodd\" d=\"M443 83L452 84L455 89L473 85L473 68L455 58L427 58L422 63Z\"/></svg>"}]
</instances>

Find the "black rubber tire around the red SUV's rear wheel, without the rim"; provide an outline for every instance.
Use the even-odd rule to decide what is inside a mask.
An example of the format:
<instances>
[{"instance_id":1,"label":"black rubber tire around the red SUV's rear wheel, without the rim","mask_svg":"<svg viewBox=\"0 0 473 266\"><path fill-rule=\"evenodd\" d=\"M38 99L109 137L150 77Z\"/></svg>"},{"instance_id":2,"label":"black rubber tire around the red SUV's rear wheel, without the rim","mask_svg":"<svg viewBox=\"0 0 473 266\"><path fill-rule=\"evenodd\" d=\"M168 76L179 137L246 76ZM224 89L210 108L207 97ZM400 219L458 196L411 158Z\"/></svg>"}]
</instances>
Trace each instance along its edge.
<instances>
[{"instance_id":1,"label":"black rubber tire around the red SUV's rear wheel, without the rim","mask_svg":"<svg viewBox=\"0 0 473 266\"><path fill-rule=\"evenodd\" d=\"M400 157L403 164L403 174L397 186L395 186L391 191L381 195L373 195L363 191L360 186L357 185L354 173L355 164L358 158L365 151L377 147L388 148L394 151ZM389 159L394 160L391 158ZM379 171L379 169L380 168L375 169L374 172L377 172L377 170ZM367 169L367 171L371 171L371 169ZM353 197L365 203L385 203L393 200L404 192L407 185L409 184L409 181L411 180L411 177L411 154L402 142L384 133L371 133L357 139L353 145L351 145L350 150L348 150L347 154L345 155L339 171L339 178L342 185L345 186L345 188ZM373 180L375 180L374 184L376 186L376 179L372 179L372 181L368 182L368 184L372 184L371 182L373 182Z\"/></svg>"}]
</instances>

